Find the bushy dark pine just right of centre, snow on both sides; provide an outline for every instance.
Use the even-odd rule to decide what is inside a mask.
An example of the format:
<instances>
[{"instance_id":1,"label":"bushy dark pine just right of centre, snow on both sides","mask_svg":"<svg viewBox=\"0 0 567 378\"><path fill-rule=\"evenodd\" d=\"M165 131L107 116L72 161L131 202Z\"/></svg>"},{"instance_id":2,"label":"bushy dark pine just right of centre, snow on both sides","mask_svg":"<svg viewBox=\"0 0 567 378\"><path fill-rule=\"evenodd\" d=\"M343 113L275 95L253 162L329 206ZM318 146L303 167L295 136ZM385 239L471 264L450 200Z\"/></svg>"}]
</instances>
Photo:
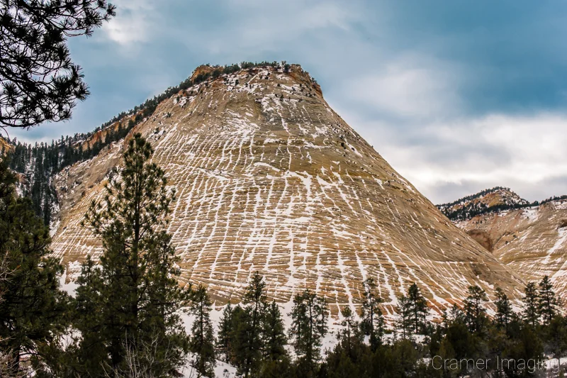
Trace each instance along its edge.
<instances>
[{"instance_id":1,"label":"bushy dark pine just right of centre, snow on both sides","mask_svg":"<svg viewBox=\"0 0 567 378\"><path fill-rule=\"evenodd\" d=\"M310 372L320 359L322 338L327 334L327 304L309 289L293 298L290 338L293 348Z\"/></svg>"}]
</instances>

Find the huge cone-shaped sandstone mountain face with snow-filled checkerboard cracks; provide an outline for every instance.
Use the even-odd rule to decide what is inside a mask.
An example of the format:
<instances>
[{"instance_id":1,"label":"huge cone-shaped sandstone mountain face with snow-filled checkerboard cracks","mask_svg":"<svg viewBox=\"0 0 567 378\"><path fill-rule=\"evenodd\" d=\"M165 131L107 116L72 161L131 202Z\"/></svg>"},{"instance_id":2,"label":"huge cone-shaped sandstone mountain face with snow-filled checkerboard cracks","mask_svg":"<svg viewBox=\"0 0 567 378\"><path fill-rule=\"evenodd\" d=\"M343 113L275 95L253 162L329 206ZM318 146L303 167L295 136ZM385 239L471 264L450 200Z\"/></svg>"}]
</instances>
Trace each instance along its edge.
<instances>
[{"instance_id":1,"label":"huge cone-shaped sandstone mountain face with snow-filled checkerboard cracks","mask_svg":"<svg viewBox=\"0 0 567 378\"><path fill-rule=\"evenodd\" d=\"M436 310L460 302L471 284L520 295L522 280L395 172L297 65L198 84L163 101L133 132L151 141L153 161L176 187L169 233L181 282L205 284L217 304L238 301L254 271L276 301L309 288L335 314L360 304L368 277L388 313L412 282ZM125 145L55 179L52 248L75 272L101 252L80 222Z\"/></svg>"}]
</instances>

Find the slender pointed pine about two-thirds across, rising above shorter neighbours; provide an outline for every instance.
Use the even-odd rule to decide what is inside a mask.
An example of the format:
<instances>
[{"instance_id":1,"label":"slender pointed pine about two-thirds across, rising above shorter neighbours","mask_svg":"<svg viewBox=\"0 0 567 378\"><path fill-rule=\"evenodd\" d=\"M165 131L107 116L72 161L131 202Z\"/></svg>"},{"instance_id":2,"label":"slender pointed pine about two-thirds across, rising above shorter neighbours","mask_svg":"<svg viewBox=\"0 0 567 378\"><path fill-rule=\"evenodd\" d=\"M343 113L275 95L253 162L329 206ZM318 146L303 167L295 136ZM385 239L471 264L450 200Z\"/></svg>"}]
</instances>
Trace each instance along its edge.
<instances>
[{"instance_id":1,"label":"slender pointed pine about two-thirds across, rising above shorter neighbours","mask_svg":"<svg viewBox=\"0 0 567 378\"><path fill-rule=\"evenodd\" d=\"M378 307L381 303L382 299L376 294L376 282L373 278L366 279L360 326L361 331L370 336L370 346L373 351L381 345L384 333L384 318Z\"/></svg>"}]
</instances>

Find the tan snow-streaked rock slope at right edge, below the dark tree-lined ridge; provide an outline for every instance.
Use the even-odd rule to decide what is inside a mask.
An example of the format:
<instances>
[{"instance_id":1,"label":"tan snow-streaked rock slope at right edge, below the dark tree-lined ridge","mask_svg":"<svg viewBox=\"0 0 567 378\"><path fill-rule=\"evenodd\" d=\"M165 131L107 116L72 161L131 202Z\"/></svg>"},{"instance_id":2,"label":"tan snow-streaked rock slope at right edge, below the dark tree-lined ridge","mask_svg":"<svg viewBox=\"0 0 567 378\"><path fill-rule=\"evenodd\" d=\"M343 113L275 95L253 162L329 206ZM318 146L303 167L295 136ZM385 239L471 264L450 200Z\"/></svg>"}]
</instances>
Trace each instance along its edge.
<instances>
[{"instance_id":1,"label":"tan snow-streaked rock slope at right edge, below the dark tree-lined ridge","mask_svg":"<svg viewBox=\"0 0 567 378\"><path fill-rule=\"evenodd\" d=\"M527 281L549 276L567 300L567 200L476 216L457 223Z\"/></svg>"}]
</instances>

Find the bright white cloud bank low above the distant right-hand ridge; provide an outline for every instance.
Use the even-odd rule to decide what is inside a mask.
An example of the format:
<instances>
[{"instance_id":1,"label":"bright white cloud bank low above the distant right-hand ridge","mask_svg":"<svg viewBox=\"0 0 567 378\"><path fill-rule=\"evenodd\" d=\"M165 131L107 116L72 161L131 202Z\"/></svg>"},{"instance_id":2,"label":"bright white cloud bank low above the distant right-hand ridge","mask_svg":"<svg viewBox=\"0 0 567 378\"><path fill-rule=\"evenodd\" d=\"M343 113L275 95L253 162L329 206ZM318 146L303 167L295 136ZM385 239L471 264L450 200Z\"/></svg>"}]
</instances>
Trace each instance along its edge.
<instances>
[{"instance_id":1,"label":"bright white cloud bank low above the distant right-hand ridge","mask_svg":"<svg viewBox=\"0 0 567 378\"><path fill-rule=\"evenodd\" d=\"M352 114L345 119L435 203L495 186L532 201L567 194L566 114L492 114L401 129Z\"/></svg>"}]
</instances>

